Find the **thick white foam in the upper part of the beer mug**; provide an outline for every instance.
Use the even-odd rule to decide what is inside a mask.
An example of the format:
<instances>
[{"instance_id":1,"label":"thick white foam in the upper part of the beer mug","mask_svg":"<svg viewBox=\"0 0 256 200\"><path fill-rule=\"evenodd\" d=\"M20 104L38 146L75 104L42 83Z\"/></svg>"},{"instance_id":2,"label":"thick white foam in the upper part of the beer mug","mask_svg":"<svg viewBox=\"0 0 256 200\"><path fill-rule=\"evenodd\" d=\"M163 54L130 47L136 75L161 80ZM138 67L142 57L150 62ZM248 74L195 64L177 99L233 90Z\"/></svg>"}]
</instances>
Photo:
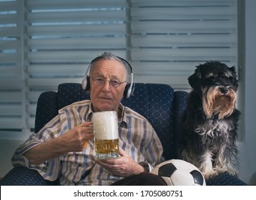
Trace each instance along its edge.
<instances>
[{"instance_id":1,"label":"thick white foam in the upper part of the beer mug","mask_svg":"<svg viewBox=\"0 0 256 200\"><path fill-rule=\"evenodd\" d=\"M92 114L95 139L118 139L116 111L102 111Z\"/></svg>"}]
</instances>

